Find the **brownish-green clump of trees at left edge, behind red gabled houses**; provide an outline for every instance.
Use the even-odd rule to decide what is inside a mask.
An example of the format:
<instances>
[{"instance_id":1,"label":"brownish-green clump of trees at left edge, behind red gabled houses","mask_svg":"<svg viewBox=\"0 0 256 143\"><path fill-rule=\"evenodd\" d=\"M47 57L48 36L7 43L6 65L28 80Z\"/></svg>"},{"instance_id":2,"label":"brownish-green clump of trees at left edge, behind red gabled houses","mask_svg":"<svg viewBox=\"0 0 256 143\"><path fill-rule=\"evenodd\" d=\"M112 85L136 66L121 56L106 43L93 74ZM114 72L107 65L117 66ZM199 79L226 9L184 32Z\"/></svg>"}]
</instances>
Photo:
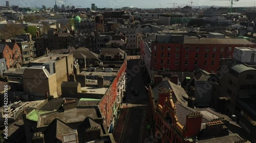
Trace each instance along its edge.
<instances>
[{"instance_id":1,"label":"brownish-green clump of trees at left edge, behind red gabled houses","mask_svg":"<svg viewBox=\"0 0 256 143\"><path fill-rule=\"evenodd\" d=\"M1 39L9 39L23 33L26 33L26 31L22 24L6 24L6 26L0 30L0 37Z\"/></svg>"}]
</instances>

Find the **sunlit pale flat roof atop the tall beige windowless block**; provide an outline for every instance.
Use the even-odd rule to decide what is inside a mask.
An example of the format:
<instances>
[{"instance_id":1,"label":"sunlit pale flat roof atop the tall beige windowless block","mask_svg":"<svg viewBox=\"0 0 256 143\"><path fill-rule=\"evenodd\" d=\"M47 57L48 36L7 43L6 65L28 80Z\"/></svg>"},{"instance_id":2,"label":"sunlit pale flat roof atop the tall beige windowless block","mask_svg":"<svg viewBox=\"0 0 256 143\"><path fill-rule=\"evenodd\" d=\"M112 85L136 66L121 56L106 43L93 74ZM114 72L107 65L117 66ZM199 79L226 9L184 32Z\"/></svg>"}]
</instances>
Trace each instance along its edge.
<instances>
[{"instance_id":1,"label":"sunlit pale flat roof atop the tall beige windowless block","mask_svg":"<svg viewBox=\"0 0 256 143\"><path fill-rule=\"evenodd\" d=\"M49 56L41 56L38 59L32 60L30 63L55 63L57 58L62 58L63 56L68 56L69 54L56 54L56 55L49 55Z\"/></svg>"}]
</instances>

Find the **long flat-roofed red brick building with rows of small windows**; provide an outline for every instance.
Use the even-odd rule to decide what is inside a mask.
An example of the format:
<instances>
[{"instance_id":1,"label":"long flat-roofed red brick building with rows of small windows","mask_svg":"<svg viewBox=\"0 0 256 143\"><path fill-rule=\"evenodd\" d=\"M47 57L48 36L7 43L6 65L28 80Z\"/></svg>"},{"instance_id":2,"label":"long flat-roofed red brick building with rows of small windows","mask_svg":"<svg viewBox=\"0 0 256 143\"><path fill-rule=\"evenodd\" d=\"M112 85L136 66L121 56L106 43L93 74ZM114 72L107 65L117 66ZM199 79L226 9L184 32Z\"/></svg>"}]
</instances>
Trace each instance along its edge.
<instances>
[{"instance_id":1,"label":"long flat-roofed red brick building with rows of small windows","mask_svg":"<svg viewBox=\"0 0 256 143\"><path fill-rule=\"evenodd\" d=\"M151 46L151 69L216 72L222 58L232 58L234 47L256 47L245 39L217 39L157 35ZM143 48L143 47L142 47ZM143 49L142 49L143 50ZM146 55L142 55L144 57Z\"/></svg>"}]
</instances>

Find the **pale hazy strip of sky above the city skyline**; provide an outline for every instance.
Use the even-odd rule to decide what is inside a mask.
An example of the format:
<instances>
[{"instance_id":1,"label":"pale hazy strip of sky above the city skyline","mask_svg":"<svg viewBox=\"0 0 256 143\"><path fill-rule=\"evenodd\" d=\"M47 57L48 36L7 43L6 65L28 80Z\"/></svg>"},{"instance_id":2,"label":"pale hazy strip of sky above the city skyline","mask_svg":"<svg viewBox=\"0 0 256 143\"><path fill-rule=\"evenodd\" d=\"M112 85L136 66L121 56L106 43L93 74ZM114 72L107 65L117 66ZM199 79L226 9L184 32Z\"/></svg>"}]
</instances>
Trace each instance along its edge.
<instances>
[{"instance_id":1,"label":"pale hazy strip of sky above the city skyline","mask_svg":"<svg viewBox=\"0 0 256 143\"><path fill-rule=\"evenodd\" d=\"M57 5L61 6L65 4L65 0L56 0ZM191 0L68 0L66 5L73 5L75 7L81 6L82 8L91 8L91 4L94 3L98 8L121 8L121 7L137 7L137 8L173 8L174 5L170 3L177 3L178 5L191 5ZM197 0L193 1L193 6L230 6L229 0ZM233 2L233 7L253 7L255 0L240 0ZM9 0L11 5L18 5L19 7L52 7L55 4L55 0ZM5 0L0 1L0 6L5 6Z\"/></svg>"}]
</instances>

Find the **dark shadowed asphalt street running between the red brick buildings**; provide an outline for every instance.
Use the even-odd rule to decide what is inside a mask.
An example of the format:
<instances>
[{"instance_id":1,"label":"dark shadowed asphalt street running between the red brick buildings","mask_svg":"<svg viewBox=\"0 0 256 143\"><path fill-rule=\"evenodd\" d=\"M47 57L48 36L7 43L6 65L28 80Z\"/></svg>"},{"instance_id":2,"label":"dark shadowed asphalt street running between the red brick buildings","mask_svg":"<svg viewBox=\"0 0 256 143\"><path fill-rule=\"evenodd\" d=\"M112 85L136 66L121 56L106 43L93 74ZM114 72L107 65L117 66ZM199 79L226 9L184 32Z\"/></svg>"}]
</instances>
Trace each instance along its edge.
<instances>
[{"instance_id":1,"label":"dark shadowed asphalt street running between the red brick buildings","mask_svg":"<svg viewBox=\"0 0 256 143\"><path fill-rule=\"evenodd\" d=\"M130 75L127 77L127 82L130 82L130 84L127 84L123 104L129 106L129 112L127 112L120 139L120 142L123 143L144 142L144 140L142 140L142 134L144 131L143 128L146 128L144 127L144 120L146 118L148 99L142 78L144 71L142 67L138 66L140 65L138 62L139 60L127 61L127 73ZM139 91L138 96L133 95L132 87L133 91Z\"/></svg>"}]
</instances>

